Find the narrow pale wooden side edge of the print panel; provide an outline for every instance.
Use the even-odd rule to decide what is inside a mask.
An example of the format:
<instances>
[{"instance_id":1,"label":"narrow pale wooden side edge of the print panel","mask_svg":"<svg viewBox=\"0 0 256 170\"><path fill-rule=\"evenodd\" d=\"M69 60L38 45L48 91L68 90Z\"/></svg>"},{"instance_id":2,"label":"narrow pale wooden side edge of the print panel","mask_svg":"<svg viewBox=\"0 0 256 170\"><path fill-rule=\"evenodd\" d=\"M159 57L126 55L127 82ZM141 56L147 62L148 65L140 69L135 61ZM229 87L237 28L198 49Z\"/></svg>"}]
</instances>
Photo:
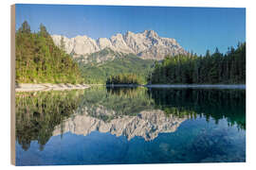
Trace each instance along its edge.
<instances>
[{"instance_id":1,"label":"narrow pale wooden side edge of the print panel","mask_svg":"<svg viewBox=\"0 0 256 170\"><path fill-rule=\"evenodd\" d=\"M15 165L15 5L10 6L10 163Z\"/></svg>"}]
</instances>

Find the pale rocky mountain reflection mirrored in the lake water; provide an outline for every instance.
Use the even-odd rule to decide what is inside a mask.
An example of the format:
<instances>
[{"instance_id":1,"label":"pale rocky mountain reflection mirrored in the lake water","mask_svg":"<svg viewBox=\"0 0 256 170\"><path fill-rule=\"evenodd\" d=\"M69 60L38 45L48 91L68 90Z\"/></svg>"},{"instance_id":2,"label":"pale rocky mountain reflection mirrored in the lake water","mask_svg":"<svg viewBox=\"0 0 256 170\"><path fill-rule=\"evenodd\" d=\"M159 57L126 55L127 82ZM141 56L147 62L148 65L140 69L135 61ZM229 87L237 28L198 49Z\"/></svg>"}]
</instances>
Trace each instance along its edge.
<instances>
[{"instance_id":1,"label":"pale rocky mountain reflection mirrored in the lake water","mask_svg":"<svg viewBox=\"0 0 256 170\"><path fill-rule=\"evenodd\" d=\"M99 109L98 111L101 111ZM70 131L78 135L88 135L98 130L110 132L116 136L125 136L131 140L135 136L141 136L145 141L154 140L158 133L174 132L186 118L178 118L174 115L167 116L162 110L143 110L136 116L124 115L108 122L88 116L86 108L82 115L76 114L57 126L53 135L60 135Z\"/></svg>"}]
</instances>

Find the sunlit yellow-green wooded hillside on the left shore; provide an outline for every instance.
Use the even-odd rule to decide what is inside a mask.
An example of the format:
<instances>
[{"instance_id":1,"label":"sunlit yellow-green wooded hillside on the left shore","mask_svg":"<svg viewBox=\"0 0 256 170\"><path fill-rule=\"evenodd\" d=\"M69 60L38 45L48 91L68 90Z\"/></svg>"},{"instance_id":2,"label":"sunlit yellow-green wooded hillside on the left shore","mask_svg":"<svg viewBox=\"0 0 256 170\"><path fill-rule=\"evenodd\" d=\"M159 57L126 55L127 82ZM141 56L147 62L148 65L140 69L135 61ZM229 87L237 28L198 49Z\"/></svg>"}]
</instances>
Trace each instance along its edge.
<instances>
[{"instance_id":1,"label":"sunlit yellow-green wooded hillside on the left shore","mask_svg":"<svg viewBox=\"0 0 256 170\"><path fill-rule=\"evenodd\" d=\"M78 64L57 47L41 25L31 33L27 22L16 31L17 83L81 83Z\"/></svg>"}]
</instances>

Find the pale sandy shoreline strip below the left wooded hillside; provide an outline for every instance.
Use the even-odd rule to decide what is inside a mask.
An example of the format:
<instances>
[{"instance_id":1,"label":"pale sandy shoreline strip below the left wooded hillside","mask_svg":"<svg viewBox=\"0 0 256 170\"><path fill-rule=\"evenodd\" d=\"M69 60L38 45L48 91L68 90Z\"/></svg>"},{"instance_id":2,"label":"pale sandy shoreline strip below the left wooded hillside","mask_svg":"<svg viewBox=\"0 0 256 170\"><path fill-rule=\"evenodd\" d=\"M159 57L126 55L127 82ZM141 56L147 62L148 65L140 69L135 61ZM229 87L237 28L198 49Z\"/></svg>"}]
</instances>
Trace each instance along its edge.
<instances>
[{"instance_id":1,"label":"pale sandy shoreline strip below the left wooded hillside","mask_svg":"<svg viewBox=\"0 0 256 170\"><path fill-rule=\"evenodd\" d=\"M42 84L30 84L30 83L21 83L15 85L15 92L37 92L37 91L64 91L64 90L79 90L87 89L91 86L87 84L51 84L51 83L42 83Z\"/></svg>"}]
</instances>

